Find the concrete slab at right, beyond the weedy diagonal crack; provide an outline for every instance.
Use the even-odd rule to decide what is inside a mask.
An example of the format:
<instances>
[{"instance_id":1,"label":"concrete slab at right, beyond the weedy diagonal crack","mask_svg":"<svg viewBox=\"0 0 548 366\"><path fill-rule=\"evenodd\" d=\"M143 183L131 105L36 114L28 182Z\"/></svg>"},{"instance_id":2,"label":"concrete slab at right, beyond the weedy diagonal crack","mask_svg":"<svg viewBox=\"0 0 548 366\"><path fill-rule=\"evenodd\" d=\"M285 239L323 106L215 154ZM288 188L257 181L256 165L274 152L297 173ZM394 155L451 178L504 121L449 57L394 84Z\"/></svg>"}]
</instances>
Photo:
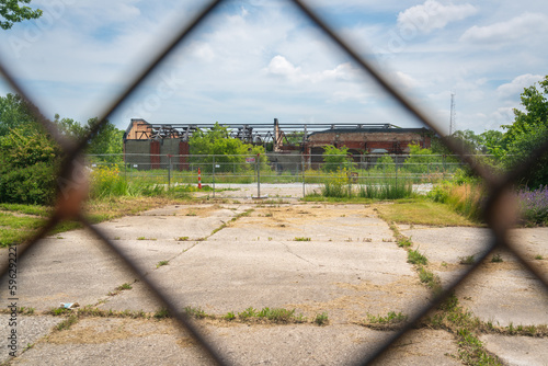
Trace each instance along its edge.
<instances>
[{"instance_id":1,"label":"concrete slab at right, beyond the weedy diagonal crack","mask_svg":"<svg viewBox=\"0 0 548 366\"><path fill-rule=\"evenodd\" d=\"M467 256L478 258L489 244L490 233L483 228L427 228L403 227L401 232L412 238L414 248L424 253L430 267L444 284L463 274L468 267L460 262ZM517 229L513 238L526 242L529 252L548 251L548 241L543 229ZM533 240L536 239L536 240ZM458 289L461 304L477 317L494 324L548 324L548 294L543 284L526 271L506 251L498 251L502 262L488 258L467 282ZM535 261L530 255L530 261ZM548 273L545 264L539 268Z\"/></svg>"}]
</instances>

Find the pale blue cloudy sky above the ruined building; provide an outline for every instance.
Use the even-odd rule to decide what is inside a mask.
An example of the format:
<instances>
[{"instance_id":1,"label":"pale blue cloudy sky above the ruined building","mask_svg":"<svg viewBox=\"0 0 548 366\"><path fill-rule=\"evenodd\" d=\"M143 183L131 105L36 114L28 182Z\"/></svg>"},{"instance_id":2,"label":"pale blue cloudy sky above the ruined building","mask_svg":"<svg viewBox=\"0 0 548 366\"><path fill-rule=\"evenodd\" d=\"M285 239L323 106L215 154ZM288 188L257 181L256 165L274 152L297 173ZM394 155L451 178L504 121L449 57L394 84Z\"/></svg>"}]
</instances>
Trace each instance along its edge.
<instances>
[{"instance_id":1,"label":"pale blue cloudy sky above the ruined building","mask_svg":"<svg viewBox=\"0 0 548 366\"><path fill-rule=\"evenodd\" d=\"M85 123L207 3L33 0L0 60L43 114ZM447 133L511 124L548 75L548 2L308 0ZM0 95L12 92L0 77ZM226 1L110 116L155 124L390 123L421 127L290 1Z\"/></svg>"}]
</instances>

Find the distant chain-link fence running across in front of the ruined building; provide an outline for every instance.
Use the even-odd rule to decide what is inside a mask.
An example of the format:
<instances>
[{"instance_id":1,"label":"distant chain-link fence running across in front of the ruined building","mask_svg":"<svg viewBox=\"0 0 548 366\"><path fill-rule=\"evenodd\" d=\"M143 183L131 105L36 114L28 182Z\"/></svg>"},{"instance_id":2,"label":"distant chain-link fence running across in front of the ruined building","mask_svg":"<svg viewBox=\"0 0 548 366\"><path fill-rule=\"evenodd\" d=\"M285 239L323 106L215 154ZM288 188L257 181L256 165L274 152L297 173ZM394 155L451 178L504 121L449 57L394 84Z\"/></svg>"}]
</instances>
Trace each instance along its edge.
<instances>
[{"instance_id":1,"label":"distant chain-link fence running across in front of the ruined building","mask_svg":"<svg viewBox=\"0 0 548 366\"><path fill-rule=\"evenodd\" d=\"M491 156L473 156L492 159ZM231 197L301 198L321 192L326 184L340 182L350 191L363 185L414 184L426 193L433 184L450 181L467 164L455 155L361 155L351 157L309 155L290 161L272 161L266 156L160 156L89 155L91 171L115 170L128 184L160 185L165 190L180 185L207 186L214 197L224 190ZM426 186L424 186L427 184ZM240 192L238 188L247 188ZM262 191L262 195L261 195Z\"/></svg>"}]
</instances>

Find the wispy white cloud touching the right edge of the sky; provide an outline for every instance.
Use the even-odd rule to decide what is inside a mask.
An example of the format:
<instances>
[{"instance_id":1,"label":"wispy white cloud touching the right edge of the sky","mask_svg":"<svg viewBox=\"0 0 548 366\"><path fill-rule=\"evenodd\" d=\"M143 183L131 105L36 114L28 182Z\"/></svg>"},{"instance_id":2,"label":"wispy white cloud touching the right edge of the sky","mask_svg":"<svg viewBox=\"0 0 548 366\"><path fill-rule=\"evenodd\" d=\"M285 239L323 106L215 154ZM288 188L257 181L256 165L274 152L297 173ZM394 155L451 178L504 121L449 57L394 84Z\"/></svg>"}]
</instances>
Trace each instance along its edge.
<instances>
[{"instance_id":1,"label":"wispy white cloud touching the right edge of the sky","mask_svg":"<svg viewBox=\"0 0 548 366\"><path fill-rule=\"evenodd\" d=\"M467 30L460 41L493 45L510 41L527 42L526 37L537 34L545 38L548 31L548 16L545 14L524 13L506 22L499 22L487 26L475 25Z\"/></svg>"}]
</instances>

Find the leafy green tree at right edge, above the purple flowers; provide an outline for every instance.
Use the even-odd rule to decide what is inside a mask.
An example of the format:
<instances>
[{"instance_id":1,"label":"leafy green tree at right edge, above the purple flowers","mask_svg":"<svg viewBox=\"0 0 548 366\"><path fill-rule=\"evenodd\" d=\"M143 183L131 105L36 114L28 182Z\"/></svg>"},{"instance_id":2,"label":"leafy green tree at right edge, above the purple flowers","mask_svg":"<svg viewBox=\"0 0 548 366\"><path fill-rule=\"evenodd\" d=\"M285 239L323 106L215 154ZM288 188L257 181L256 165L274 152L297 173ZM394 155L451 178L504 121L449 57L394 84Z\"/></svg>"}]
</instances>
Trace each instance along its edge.
<instances>
[{"instance_id":1,"label":"leafy green tree at right edge, above the purple flowers","mask_svg":"<svg viewBox=\"0 0 548 366\"><path fill-rule=\"evenodd\" d=\"M514 123L506 129L501 147L495 152L507 169L522 164L529 153L548 139L548 76L525 88L522 95L523 111L514 108ZM520 184L536 188L548 184L548 155L538 159L521 178Z\"/></svg>"}]
</instances>

